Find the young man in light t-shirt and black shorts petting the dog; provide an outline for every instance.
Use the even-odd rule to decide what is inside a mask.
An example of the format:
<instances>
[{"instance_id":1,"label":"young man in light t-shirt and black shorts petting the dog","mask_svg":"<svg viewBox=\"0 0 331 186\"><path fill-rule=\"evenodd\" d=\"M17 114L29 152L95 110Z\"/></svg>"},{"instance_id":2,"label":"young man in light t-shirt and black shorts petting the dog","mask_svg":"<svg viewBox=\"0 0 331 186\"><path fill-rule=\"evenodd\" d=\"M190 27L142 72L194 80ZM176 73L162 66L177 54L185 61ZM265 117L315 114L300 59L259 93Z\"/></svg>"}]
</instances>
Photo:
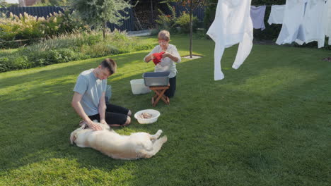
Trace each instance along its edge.
<instances>
[{"instance_id":1,"label":"young man in light t-shirt and black shorts petting the dog","mask_svg":"<svg viewBox=\"0 0 331 186\"><path fill-rule=\"evenodd\" d=\"M108 124L110 127L126 126L131 122L132 112L129 109L105 104L107 78L115 73L116 68L116 62L106 58L97 68L91 68L79 74L71 106L83 118L80 125L86 123L93 130L101 130L93 120Z\"/></svg>"}]
</instances>

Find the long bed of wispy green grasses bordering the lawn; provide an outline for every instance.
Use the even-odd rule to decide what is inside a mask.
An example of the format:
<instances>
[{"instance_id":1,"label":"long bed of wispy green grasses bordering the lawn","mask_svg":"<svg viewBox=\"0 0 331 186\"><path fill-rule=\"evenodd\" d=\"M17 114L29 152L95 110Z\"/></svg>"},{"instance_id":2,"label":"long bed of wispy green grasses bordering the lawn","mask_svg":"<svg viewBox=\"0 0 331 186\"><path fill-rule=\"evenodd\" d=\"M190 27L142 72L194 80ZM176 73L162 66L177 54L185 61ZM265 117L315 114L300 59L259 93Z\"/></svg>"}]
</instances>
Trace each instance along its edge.
<instances>
[{"instance_id":1,"label":"long bed of wispy green grasses bordering the lawn","mask_svg":"<svg viewBox=\"0 0 331 186\"><path fill-rule=\"evenodd\" d=\"M15 51L2 51L0 73L152 48L148 42L118 30L108 32L105 39L101 32L73 32Z\"/></svg>"}]
</instances>

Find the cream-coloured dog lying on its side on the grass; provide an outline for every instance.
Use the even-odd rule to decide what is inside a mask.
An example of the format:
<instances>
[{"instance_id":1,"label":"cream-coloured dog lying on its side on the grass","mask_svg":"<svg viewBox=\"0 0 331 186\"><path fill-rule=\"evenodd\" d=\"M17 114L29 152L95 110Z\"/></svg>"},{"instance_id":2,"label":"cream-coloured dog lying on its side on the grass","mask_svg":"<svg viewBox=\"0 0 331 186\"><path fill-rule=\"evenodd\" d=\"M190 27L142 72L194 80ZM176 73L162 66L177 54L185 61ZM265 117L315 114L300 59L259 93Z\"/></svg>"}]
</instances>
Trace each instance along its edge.
<instances>
[{"instance_id":1,"label":"cream-coloured dog lying on its side on the grass","mask_svg":"<svg viewBox=\"0 0 331 186\"><path fill-rule=\"evenodd\" d=\"M129 136L119 135L110 130L109 125L98 123L103 130L92 130L86 125L71 132L71 144L76 143L78 147L91 147L113 159L139 159L151 158L167 141L167 137L160 137L162 130L155 135L146 132L132 133Z\"/></svg>"}]
</instances>

